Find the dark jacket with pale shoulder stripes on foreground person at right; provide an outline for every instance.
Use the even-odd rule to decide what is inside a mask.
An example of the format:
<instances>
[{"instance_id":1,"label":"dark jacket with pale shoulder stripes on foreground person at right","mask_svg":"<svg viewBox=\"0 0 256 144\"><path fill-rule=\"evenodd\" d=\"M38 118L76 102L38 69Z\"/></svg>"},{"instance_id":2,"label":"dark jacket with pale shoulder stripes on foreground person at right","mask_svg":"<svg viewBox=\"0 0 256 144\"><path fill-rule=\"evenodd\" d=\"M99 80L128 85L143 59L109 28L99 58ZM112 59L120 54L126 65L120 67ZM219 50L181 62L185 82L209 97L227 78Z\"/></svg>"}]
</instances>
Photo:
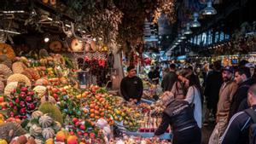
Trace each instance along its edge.
<instances>
[{"instance_id":1,"label":"dark jacket with pale shoulder stripes on foreground person at right","mask_svg":"<svg viewBox=\"0 0 256 144\"><path fill-rule=\"evenodd\" d=\"M256 106L253 106L254 111L255 109ZM227 129L220 139L220 144L248 144L250 124L253 124L253 120L246 112L237 112L230 119Z\"/></svg>"}]
</instances>

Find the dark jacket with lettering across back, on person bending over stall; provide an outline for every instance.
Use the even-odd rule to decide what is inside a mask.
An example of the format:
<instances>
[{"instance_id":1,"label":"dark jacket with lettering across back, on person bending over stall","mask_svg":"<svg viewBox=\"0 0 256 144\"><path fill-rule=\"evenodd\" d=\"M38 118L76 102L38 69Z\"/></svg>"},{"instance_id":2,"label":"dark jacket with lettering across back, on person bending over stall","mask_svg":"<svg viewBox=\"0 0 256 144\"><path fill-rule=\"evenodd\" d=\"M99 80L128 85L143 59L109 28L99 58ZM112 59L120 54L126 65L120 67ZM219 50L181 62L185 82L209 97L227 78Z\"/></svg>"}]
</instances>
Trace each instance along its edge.
<instances>
[{"instance_id":1,"label":"dark jacket with lettering across back, on person bending over stall","mask_svg":"<svg viewBox=\"0 0 256 144\"><path fill-rule=\"evenodd\" d=\"M165 133L169 124L174 133L187 130L188 128L198 127L195 122L193 108L189 106L188 101L172 101L166 107L163 113L162 122L154 132L154 135Z\"/></svg>"}]
</instances>

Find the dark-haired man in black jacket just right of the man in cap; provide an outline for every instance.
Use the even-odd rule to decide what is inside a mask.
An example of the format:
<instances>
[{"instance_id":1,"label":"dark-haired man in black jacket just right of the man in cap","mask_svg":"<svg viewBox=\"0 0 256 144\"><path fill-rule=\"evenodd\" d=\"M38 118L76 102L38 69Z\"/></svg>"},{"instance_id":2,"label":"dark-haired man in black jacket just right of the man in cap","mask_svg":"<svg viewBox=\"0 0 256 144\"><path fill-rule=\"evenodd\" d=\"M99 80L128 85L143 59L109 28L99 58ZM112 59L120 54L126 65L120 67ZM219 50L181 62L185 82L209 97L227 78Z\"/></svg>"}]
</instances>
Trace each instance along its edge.
<instances>
[{"instance_id":1,"label":"dark-haired man in black jacket just right of the man in cap","mask_svg":"<svg viewBox=\"0 0 256 144\"><path fill-rule=\"evenodd\" d=\"M255 79L251 78L250 69L248 67L241 67L236 70L235 81L236 84L238 84L238 88L231 102L230 118L238 112L241 101L247 98L247 90L249 87L255 84Z\"/></svg>"}]
</instances>

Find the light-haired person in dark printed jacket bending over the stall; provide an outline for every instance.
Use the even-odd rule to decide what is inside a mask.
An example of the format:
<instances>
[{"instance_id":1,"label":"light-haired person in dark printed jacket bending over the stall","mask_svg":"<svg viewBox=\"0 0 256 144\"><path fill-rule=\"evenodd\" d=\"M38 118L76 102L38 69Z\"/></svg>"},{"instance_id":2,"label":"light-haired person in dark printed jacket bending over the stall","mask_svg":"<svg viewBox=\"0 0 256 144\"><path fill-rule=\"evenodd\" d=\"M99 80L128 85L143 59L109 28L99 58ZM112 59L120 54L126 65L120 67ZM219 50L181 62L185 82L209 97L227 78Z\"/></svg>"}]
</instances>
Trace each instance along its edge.
<instances>
[{"instance_id":1,"label":"light-haired person in dark printed jacket bending over the stall","mask_svg":"<svg viewBox=\"0 0 256 144\"><path fill-rule=\"evenodd\" d=\"M171 125L172 144L201 144L201 130L195 121L194 110L189 102L175 100L173 95L166 95L164 98L162 96L161 101L166 109L154 135L164 134Z\"/></svg>"}]
</instances>

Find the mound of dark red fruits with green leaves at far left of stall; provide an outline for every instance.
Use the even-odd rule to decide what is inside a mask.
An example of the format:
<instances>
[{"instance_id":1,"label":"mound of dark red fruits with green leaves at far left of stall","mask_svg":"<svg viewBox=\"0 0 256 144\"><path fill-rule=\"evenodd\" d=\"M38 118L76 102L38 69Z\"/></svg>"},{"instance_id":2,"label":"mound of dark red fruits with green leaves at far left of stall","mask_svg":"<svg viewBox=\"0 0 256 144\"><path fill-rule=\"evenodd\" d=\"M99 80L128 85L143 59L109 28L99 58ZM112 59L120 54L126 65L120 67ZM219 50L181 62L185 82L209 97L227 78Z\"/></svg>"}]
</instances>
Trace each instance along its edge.
<instances>
[{"instance_id":1,"label":"mound of dark red fruits with green leaves at far left of stall","mask_svg":"<svg viewBox=\"0 0 256 144\"><path fill-rule=\"evenodd\" d=\"M29 118L38 107L38 95L25 84L18 84L17 88L9 96L8 115L10 118Z\"/></svg>"}]
</instances>

